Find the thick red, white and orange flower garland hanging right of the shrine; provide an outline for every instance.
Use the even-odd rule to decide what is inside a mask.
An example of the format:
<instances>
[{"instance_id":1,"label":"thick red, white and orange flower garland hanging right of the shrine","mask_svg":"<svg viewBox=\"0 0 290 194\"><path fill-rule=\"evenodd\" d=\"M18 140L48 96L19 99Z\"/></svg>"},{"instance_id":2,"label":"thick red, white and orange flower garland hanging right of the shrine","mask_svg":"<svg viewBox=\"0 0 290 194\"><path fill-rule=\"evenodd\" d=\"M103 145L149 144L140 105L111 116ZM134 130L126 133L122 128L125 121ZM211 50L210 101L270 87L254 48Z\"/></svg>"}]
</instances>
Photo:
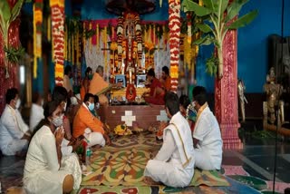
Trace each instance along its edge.
<instances>
[{"instance_id":1,"label":"thick red, white and orange flower garland hanging right of the shrine","mask_svg":"<svg viewBox=\"0 0 290 194\"><path fill-rule=\"evenodd\" d=\"M169 0L169 48L171 90L177 92L179 79L180 0Z\"/></svg>"}]
</instances>

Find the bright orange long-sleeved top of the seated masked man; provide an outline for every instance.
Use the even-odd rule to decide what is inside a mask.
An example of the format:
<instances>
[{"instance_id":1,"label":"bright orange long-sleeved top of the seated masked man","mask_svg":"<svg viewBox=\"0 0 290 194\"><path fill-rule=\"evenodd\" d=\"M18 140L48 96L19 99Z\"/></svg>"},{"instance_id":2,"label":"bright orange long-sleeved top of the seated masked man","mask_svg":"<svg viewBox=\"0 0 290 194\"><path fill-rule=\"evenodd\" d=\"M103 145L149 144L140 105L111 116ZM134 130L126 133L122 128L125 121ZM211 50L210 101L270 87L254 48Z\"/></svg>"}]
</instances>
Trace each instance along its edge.
<instances>
[{"instance_id":1,"label":"bright orange long-sleeved top of the seated masked man","mask_svg":"<svg viewBox=\"0 0 290 194\"><path fill-rule=\"evenodd\" d=\"M73 137L78 138L83 135L86 128L90 128L94 132L104 133L102 121L93 116L85 104L82 104L73 120Z\"/></svg>"}]
</instances>

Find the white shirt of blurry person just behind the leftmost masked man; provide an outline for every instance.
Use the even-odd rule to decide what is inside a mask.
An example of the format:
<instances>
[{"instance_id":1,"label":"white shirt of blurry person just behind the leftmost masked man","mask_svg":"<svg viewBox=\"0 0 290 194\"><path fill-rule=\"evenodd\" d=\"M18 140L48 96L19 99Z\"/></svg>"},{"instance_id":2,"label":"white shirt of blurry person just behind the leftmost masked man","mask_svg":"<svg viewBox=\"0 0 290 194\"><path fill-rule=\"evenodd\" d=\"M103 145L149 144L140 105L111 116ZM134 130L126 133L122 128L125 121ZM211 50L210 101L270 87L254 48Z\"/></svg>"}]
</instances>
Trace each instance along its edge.
<instances>
[{"instance_id":1,"label":"white shirt of blurry person just behind the leftmost masked man","mask_svg":"<svg viewBox=\"0 0 290 194\"><path fill-rule=\"evenodd\" d=\"M30 131L34 131L34 128L37 126L37 124L44 119L43 112L44 110L42 106L33 103L30 110L30 120L29 120Z\"/></svg>"}]
</instances>

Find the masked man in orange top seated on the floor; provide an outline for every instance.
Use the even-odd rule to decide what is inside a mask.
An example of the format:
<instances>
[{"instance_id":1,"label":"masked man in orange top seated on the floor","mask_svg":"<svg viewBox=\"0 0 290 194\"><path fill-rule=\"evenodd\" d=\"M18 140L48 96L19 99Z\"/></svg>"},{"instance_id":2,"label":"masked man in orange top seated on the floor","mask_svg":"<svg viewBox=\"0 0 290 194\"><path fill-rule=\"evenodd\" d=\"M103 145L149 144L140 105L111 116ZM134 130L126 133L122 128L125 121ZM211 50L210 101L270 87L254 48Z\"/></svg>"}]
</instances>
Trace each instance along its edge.
<instances>
[{"instance_id":1,"label":"masked man in orange top seated on the floor","mask_svg":"<svg viewBox=\"0 0 290 194\"><path fill-rule=\"evenodd\" d=\"M104 124L92 114L95 109L94 96L92 93L86 93L82 102L82 106L76 113L73 120L73 137L79 138L84 136L90 146L110 144L111 140L104 131Z\"/></svg>"}]
</instances>

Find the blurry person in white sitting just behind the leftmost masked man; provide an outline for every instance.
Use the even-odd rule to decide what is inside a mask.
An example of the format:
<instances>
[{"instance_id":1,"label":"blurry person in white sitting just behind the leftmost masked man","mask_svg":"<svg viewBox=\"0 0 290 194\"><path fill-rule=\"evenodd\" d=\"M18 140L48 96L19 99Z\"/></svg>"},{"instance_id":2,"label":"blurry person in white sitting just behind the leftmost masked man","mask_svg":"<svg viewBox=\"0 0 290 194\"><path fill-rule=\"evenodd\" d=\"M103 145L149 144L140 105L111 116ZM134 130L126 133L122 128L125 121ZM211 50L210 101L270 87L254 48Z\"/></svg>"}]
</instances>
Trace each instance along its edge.
<instances>
[{"instance_id":1,"label":"blurry person in white sitting just behind the leftmost masked man","mask_svg":"<svg viewBox=\"0 0 290 194\"><path fill-rule=\"evenodd\" d=\"M30 110L30 120L29 120L29 127L30 131L34 131L34 128L44 119L43 115L43 96L40 95L38 92L33 94L33 105L31 106Z\"/></svg>"}]
</instances>

